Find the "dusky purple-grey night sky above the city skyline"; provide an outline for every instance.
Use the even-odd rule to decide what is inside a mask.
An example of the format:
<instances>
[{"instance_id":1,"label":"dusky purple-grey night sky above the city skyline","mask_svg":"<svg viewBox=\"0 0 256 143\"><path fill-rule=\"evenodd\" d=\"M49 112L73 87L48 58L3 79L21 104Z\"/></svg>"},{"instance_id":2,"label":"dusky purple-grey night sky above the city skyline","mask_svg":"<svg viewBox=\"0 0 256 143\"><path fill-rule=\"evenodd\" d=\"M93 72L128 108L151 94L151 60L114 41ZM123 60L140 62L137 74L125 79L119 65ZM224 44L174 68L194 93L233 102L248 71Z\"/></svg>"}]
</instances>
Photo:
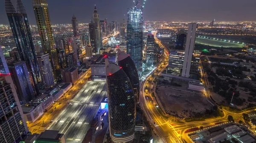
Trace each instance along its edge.
<instances>
[{"instance_id":1,"label":"dusky purple-grey night sky above the city skyline","mask_svg":"<svg viewBox=\"0 0 256 143\"><path fill-rule=\"evenodd\" d=\"M9 24L4 0L0 0L0 24ZM32 0L22 0L30 24L36 24ZM144 2L144 0L141 0ZM48 0L52 24L71 23L73 14L79 22L90 22L94 4L100 19L122 22L133 0ZM256 0L146 0L145 20L164 21L256 21ZM126 17L126 16L125 16Z\"/></svg>"}]
</instances>

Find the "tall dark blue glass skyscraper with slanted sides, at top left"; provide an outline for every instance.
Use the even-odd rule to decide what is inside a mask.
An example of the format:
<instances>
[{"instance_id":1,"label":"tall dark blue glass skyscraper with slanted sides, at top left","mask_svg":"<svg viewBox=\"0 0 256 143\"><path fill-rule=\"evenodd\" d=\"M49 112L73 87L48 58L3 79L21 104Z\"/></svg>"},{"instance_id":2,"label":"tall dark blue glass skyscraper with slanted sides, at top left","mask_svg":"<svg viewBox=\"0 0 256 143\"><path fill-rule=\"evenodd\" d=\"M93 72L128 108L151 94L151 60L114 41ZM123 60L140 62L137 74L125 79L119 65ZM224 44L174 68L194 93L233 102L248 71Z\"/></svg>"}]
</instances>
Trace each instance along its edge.
<instances>
[{"instance_id":1,"label":"tall dark blue glass skyscraper with slanted sides, at top left","mask_svg":"<svg viewBox=\"0 0 256 143\"><path fill-rule=\"evenodd\" d=\"M44 88L44 84L42 83L41 72L38 67L25 7L21 0L5 0L5 7L19 57L26 62L29 76L31 76L32 82L38 93L39 89ZM17 57L16 60L18 59L19 58Z\"/></svg>"}]
</instances>

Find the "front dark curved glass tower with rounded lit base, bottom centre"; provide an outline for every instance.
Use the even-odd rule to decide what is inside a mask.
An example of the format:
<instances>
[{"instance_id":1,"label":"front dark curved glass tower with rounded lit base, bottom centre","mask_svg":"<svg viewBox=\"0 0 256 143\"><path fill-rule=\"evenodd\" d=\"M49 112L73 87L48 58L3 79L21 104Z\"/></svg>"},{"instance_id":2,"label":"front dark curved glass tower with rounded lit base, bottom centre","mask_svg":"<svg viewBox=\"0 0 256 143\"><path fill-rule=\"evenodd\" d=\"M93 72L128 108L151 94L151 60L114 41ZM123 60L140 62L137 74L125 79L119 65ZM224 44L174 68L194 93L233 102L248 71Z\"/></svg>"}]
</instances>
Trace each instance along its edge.
<instances>
[{"instance_id":1,"label":"front dark curved glass tower with rounded lit base, bottom centre","mask_svg":"<svg viewBox=\"0 0 256 143\"><path fill-rule=\"evenodd\" d=\"M110 136L114 143L134 139L136 105L134 90L126 73L105 60Z\"/></svg>"}]
</instances>

